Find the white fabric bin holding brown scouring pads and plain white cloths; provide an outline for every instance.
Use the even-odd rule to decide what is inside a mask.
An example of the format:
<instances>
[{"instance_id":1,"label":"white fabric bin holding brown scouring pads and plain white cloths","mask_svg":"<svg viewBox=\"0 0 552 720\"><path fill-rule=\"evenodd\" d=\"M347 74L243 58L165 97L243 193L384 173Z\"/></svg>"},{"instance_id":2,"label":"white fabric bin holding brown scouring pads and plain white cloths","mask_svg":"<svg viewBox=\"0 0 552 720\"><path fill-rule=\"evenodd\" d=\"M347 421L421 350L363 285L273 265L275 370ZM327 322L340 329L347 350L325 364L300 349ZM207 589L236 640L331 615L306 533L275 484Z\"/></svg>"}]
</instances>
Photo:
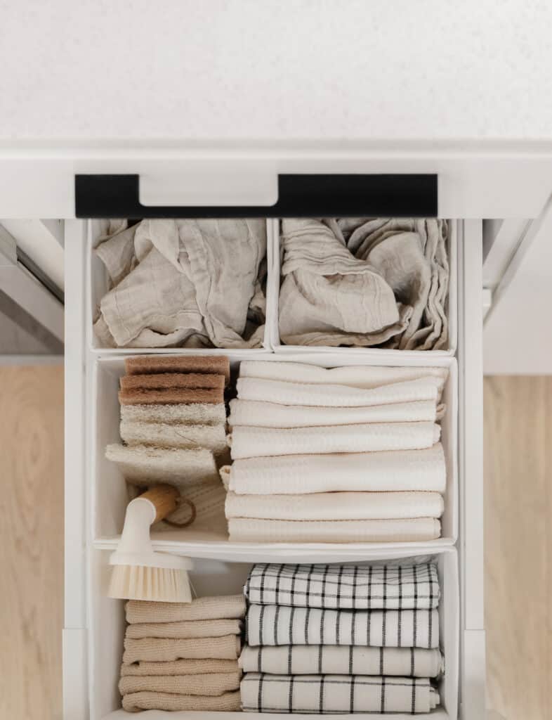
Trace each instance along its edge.
<instances>
[{"instance_id":1,"label":"white fabric bin holding brown scouring pads and plain white cloths","mask_svg":"<svg viewBox=\"0 0 552 720\"><path fill-rule=\"evenodd\" d=\"M231 370L237 374L239 363L242 360L251 359L250 354L229 352ZM397 359L402 356L381 358L377 355L359 356L358 354L341 353L311 353L302 355L275 355L266 354L258 359L266 361L301 362L313 364L313 366L339 367L351 365L365 366L397 366ZM424 359L433 359L432 363L423 362ZM443 402L446 404L446 413L441 420L441 442L446 458L446 492L444 495L445 509L441 518L441 537L427 542L390 542L390 543L365 543L360 544L364 548L385 547L391 549L397 545L404 546L441 546L443 544L454 544L458 535L458 373L456 361L451 357L433 358L424 355L423 357L405 358L402 366L438 366L448 369L449 376L443 390ZM120 406L117 397L119 389L119 378L124 375L124 357L122 356L98 356L96 357L93 372L93 387L91 388L91 419L92 419L92 442L88 467L91 470L91 486L93 487L93 530L94 538L102 546L106 543L114 544L114 538L121 532L124 521L124 511L129 501L126 482L119 467L105 457L107 444L119 442L119 414ZM227 539L226 534L195 531L193 525L183 529L166 529L153 531L156 544L163 549L175 549L175 551L206 554L214 557L211 553L218 547L224 549L224 554L244 546L244 543L232 543ZM249 546L249 543L246 544ZM252 544L258 547L270 547L270 544ZM322 548L328 548L334 544L313 544ZM342 544L346 545L346 544ZM293 544L283 544L292 548ZM299 545L300 547L300 545Z\"/></svg>"}]
</instances>

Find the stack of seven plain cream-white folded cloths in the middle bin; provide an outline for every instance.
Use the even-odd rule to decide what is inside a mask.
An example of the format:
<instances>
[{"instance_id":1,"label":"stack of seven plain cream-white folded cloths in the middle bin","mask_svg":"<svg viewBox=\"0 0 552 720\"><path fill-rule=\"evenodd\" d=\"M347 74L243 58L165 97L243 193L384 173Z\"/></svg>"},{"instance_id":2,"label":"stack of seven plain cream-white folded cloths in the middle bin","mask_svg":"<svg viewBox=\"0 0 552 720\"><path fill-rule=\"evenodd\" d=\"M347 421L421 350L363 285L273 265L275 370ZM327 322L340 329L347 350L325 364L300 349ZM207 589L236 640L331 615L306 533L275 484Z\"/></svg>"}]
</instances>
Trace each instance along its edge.
<instances>
[{"instance_id":1,"label":"stack of seven plain cream-white folded cloths in the middle bin","mask_svg":"<svg viewBox=\"0 0 552 720\"><path fill-rule=\"evenodd\" d=\"M243 361L230 402L233 541L441 536L441 367Z\"/></svg>"}]
</instances>

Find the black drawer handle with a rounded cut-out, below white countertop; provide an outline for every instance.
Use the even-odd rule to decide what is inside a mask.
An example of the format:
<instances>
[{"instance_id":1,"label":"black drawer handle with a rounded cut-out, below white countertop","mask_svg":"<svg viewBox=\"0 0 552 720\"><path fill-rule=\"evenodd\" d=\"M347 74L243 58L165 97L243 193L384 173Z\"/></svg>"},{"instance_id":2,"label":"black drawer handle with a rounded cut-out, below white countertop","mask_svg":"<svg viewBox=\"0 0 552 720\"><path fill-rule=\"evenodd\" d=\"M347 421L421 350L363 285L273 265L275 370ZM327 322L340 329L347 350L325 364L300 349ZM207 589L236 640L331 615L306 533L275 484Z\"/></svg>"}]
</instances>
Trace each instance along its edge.
<instances>
[{"instance_id":1,"label":"black drawer handle with a rounded cut-out, below white countertop","mask_svg":"<svg viewBox=\"0 0 552 720\"><path fill-rule=\"evenodd\" d=\"M139 202L139 175L75 175L76 217L437 217L437 176L279 175L268 207Z\"/></svg>"}]
</instances>

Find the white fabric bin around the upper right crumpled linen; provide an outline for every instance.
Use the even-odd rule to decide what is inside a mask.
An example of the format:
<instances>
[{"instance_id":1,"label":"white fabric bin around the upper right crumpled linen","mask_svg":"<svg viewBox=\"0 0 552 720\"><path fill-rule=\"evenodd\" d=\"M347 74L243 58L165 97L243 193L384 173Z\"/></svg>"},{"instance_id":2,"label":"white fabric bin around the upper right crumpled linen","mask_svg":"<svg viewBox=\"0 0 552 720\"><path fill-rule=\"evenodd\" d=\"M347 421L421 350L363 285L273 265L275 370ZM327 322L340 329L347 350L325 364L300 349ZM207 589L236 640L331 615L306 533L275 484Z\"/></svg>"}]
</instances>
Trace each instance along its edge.
<instances>
[{"instance_id":1,"label":"white fabric bin around the upper right crumpled linen","mask_svg":"<svg viewBox=\"0 0 552 720\"><path fill-rule=\"evenodd\" d=\"M280 276L280 269L282 263L282 251L280 243L281 233L281 220L272 220L273 228L272 235L274 238L272 257L272 266L274 274L277 276L277 292L280 293L280 284L282 277ZM400 356L451 356L456 352L457 339L458 339L458 290L457 290L457 274L458 274L458 222L456 220L449 220L449 236L447 238L447 253L449 256L449 292L446 302L446 316L449 320L449 338L446 349L443 350L390 350L387 348L377 347L349 347L341 346L339 348L331 346L300 346L293 344L285 344L280 339L280 327L279 327L279 302L275 301L275 307L277 311L276 317L272 317L270 324L270 343L272 348L278 353L308 353L311 351L324 351L324 352L344 352L355 353L359 356L364 354L375 353L377 355L390 355L394 356L400 354Z\"/></svg>"}]
</instances>

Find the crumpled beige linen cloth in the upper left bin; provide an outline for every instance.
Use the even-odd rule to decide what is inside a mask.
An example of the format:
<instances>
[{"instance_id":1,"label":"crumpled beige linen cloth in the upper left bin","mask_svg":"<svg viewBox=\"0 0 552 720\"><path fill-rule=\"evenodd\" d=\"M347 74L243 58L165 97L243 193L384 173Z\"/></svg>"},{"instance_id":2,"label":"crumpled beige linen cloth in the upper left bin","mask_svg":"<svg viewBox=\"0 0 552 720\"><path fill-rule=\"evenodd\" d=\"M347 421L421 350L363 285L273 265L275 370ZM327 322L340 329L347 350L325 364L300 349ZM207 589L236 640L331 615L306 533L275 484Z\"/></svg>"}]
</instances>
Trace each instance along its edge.
<instances>
[{"instance_id":1,"label":"crumpled beige linen cloth in the upper left bin","mask_svg":"<svg viewBox=\"0 0 552 720\"><path fill-rule=\"evenodd\" d=\"M107 347L259 347L264 220L142 220L95 249L110 289L94 323Z\"/></svg>"}]
</instances>

